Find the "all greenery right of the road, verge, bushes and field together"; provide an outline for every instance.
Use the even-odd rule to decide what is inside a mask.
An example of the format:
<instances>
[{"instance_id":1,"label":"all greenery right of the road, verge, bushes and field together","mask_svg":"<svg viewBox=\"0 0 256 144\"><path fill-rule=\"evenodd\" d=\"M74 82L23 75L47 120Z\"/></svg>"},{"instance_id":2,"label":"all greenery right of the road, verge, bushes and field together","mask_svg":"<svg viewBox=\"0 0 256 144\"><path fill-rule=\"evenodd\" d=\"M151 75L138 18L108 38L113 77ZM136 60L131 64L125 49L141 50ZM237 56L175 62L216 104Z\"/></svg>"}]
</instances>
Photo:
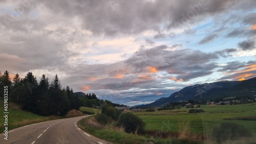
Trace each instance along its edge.
<instances>
[{"instance_id":1,"label":"all greenery right of the road, verge, bushes and field together","mask_svg":"<svg viewBox=\"0 0 256 144\"><path fill-rule=\"evenodd\" d=\"M79 127L113 143L253 143L256 140L254 103L201 105L192 109L200 113L189 113L191 108L185 107L172 111L122 112L116 121L102 113L82 119ZM130 118L132 115L145 124L141 132L125 130L125 124L136 119ZM122 125L118 123L120 119Z\"/></svg>"}]
</instances>

